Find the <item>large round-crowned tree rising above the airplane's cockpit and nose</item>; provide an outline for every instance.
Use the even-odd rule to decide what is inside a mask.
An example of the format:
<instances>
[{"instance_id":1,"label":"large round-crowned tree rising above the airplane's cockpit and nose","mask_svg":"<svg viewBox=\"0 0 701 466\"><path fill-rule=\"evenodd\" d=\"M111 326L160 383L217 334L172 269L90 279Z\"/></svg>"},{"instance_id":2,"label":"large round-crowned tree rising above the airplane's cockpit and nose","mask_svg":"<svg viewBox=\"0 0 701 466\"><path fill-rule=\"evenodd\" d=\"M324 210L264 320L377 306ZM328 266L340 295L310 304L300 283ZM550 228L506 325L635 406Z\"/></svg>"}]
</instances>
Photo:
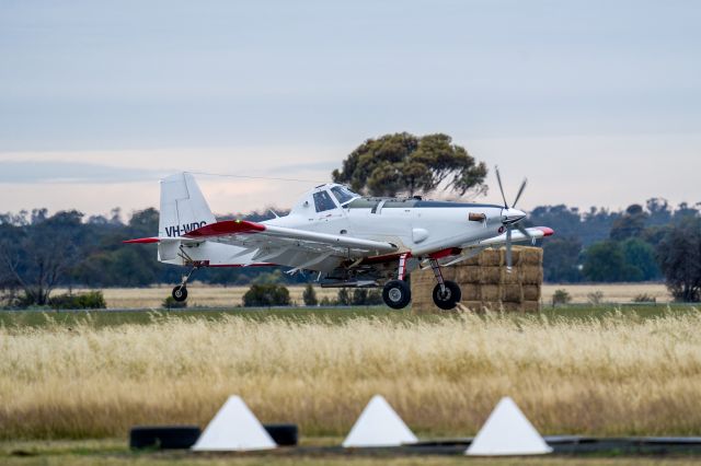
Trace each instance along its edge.
<instances>
[{"instance_id":1,"label":"large round-crowned tree rising above the airplane's cockpit and nose","mask_svg":"<svg viewBox=\"0 0 701 466\"><path fill-rule=\"evenodd\" d=\"M447 182L446 189L461 196L469 190L486 193L487 170L447 135L416 137L407 132L368 139L334 170L333 180L349 184L372 196L413 196Z\"/></svg>"}]
</instances>

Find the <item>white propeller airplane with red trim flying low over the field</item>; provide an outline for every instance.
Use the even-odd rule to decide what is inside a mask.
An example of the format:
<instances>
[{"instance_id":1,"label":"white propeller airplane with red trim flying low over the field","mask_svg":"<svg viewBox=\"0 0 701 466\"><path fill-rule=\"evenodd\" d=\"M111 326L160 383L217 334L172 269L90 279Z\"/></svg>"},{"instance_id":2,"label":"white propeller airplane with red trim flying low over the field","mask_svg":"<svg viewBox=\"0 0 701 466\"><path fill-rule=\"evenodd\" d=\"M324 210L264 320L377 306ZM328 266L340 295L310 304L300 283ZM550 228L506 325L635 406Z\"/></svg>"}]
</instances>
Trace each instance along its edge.
<instances>
[{"instance_id":1,"label":"white propeller airplane with red trim flying low over the field","mask_svg":"<svg viewBox=\"0 0 701 466\"><path fill-rule=\"evenodd\" d=\"M319 272L321 287L382 287L388 306L405 307L411 289L404 278L430 267L437 284L434 302L450 310L460 287L444 280L441 267L468 259L482 249L550 236L547 226L526 229L526 217L509 207L496 172L504 206L423 200L421 197L363 197L337 184L319 185L304 194L288 215L263 222L217 221L193 175L161 180L158 236L125 243L158 243L158 259L191 267L173 289L187 298L187 280L202 267L287 266ZM521 196L526 180L516 196ZM516 231L513 231L516 229Z\"/></svg>"}]
</instances>

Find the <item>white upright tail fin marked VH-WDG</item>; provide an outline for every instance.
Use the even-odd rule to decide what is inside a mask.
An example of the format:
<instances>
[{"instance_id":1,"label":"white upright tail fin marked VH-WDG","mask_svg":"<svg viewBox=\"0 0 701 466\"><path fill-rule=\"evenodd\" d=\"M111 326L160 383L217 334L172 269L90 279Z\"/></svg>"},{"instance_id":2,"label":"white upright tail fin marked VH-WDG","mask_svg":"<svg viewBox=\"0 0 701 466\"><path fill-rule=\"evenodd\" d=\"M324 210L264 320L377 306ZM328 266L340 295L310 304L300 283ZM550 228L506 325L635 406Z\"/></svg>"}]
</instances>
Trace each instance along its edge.
<instances>
[{"instance_id":1,"label":"white upright tail fin marked VH-WDG","mask_svg":"<svg viewBox=\"0 0 701 466\"><path fill-rule=\"evenodd\" d=\"M159 237L177 237L215 222L193 175L179 173L161 179Z\"/></svg>"}]
</instances>

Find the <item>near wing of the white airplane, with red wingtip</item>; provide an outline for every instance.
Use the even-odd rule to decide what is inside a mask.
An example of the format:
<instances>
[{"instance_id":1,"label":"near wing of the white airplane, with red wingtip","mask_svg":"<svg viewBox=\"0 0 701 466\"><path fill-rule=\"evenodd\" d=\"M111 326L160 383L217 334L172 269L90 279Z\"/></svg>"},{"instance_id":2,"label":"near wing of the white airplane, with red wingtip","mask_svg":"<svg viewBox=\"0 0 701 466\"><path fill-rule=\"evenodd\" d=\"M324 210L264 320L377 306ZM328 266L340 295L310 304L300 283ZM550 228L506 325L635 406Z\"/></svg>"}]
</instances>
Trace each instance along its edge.
<instances>
[{"instance_id":1,"label":"near wing of the white airplane, with red wingtip","mask_svg":"<svg viewBox=\"0 0 701 466\"><path fill-rule=\"evenodd\" d=\"M249 249L294 248L315 253L347 256L348 249L363 254L392 253L392 243L363 240L346 235L333 235L308 230L289 229L246 220L225 220L193 230L184 235L188 240L214 241Z\"/></svg>"}]
</instances>

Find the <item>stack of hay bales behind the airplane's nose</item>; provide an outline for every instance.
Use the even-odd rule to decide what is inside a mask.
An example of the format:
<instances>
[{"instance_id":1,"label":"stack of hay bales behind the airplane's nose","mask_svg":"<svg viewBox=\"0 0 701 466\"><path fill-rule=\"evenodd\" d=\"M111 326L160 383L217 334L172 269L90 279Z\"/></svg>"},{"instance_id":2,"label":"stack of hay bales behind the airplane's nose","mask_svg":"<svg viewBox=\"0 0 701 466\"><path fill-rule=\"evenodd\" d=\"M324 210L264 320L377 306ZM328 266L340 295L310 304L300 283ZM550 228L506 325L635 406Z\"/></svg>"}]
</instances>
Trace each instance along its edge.
<instances>
[{"instance_id":1,"label":"stack of hay bales behind the airplane's nose","mask_svg":"<svg viewBox=\"0 0 701 466\"><path fill-rule=\"evenodd\" d=\"M540 247L514 246L512 272L506 271L506 251L484 249L478 256L450 267L443 276L462 289L460 304L472 311L537 312L543 281L543 251ZM411 276L414 313L440 311L433 300L436 279L430 268ZM460 307L460 305L458 306Z\"/></svg>"}]
</instances>

